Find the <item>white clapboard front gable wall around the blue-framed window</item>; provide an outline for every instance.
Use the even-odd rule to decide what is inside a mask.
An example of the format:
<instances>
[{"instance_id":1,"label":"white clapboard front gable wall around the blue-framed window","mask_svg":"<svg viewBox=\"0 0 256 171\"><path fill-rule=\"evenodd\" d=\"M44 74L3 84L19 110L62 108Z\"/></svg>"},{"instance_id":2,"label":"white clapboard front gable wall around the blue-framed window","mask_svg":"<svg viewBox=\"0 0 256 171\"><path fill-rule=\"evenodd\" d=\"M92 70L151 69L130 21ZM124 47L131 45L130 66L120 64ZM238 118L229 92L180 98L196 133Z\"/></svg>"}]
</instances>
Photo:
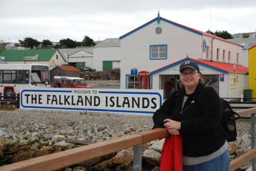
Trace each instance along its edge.
<instances>
[{"instance_id":1,"label":"white clapboard front gable wall around the blue-framed window","mask_svg":"<svg viewBox=\"0 0 256 171\"><path fill-rule=\"evenodd\" d=\"M162 28L162 34L155 33L156 27ZM150 45L160 44L167 44L167 59L150 60ZM142 70L152 72L184 59L187 55L188 57L199 59L201 36L161 20L159 24L158 22L151 23L121 39L121 49L121 89L125 89L125 76L130 74L130 70L133 69L134 65L138 72ZM157 80L158 78L154 81ZM158 86L155 87L153 85L153 89L158 89Z\"/></svg>"}]
</instances>

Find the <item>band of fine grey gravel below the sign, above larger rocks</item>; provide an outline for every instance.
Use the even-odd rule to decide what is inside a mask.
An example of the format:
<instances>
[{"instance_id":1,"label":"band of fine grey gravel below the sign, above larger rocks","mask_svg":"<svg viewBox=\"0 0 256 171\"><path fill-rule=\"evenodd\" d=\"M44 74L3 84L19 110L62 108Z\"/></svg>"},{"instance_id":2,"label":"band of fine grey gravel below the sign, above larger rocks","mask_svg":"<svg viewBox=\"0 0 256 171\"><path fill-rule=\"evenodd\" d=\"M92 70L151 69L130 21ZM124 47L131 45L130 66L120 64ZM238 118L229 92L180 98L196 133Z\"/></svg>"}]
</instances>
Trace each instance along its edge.
<instances>
[{"instance_id":1,"label":"band of fine grey gravel below the sign, above larger rocks","mask_svg":"<svg viewBox=\"0 0 256 171\"><path fill-rule=\"evenodd\" d=\"M124 115L95 112L71 111L43 111L43 110L14 110L0 111L0 127L9 134L0 136L14 136L19 132L37 132L38 135L51 134L65 130L77 130L86 135L86 131L96 127L107 127L109 131L123 132L123 127L130 127L131 132L137 133L151 130L154 123L150 115ZM57 130L57 131L56 131ZM247 133L250 135L250 122L237 122L238 136ZM65 132L63 131L63 132ZM97 135L97 134L96 134ZM77 136L77 135L76 135ZM7 137L5 137L7 138ZM79 138L79 136L77 137Z\"/></svg>"}]
</instances>

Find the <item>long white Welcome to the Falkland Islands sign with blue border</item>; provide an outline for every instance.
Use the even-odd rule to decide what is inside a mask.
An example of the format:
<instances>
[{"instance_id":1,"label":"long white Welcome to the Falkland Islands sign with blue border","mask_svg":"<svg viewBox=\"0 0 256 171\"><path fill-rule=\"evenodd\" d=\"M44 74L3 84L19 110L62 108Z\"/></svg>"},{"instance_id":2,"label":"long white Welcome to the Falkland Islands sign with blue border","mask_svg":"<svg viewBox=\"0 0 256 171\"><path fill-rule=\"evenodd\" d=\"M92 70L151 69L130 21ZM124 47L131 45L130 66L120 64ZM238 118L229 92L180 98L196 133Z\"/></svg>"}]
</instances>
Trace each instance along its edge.
<instances>
[{"instance_id":1,"label":"long white Welcome to the Falkland Islands sign with blue border","mask_svg":"<svg viewBox=\"0 0 256 171\"><path fill-rule=\"evenodd\" d=\"M20 109L154 114L163 90L30 88L20 91Z\"/></svg>"}]
</instances>

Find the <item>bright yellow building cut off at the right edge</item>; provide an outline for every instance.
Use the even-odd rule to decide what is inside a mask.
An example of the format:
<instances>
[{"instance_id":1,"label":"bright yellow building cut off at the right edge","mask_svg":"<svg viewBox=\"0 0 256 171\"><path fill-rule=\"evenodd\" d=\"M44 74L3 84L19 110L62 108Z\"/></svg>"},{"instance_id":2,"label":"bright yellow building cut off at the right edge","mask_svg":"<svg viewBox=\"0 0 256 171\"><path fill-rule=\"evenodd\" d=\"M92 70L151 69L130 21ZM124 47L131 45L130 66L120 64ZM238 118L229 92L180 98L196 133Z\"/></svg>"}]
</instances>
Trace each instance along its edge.
<instances>
[{"instance_id":1,"label":"bright yellow building cut off at the right edge","mask_svg":"<svg viewBox=\"0 0 256 171\"><path fill-rule=\"evenodd\" d=\"M253 90L253 98L256 97L256 45L249 51L249 89ZM255 100L255 99L254 99Z\"/></svg>"}]
</instances>

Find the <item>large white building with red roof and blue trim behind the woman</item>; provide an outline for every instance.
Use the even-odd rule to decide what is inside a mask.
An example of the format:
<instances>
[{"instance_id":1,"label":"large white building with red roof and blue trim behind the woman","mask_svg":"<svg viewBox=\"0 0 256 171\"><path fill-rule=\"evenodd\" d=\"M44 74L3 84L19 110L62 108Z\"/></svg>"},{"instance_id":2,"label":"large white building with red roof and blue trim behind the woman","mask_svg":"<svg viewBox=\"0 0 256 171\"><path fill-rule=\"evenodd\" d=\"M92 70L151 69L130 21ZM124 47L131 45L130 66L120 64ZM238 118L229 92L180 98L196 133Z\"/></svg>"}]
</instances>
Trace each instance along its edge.
<instances>
[{"instance_id":1,"label":"large white building with red roof and blue trim behind the woman","mask_svg":"<svg viewBox=\"0 0 256 171\"><path fill-rule=\"evenodd\" d=\"M119 37L121 40L121 89L163 89L171 82L179 89L179 65L199 63L205 85L220 97L240 98L248 88L248 68L242 66L242 45L159 16ZM140 73L145 76L143 82ZM146 74L145 74L146 73ZM149 78L149 79L148 79ZM143 85L143 86L142 86Z\"/></svg>"}]
</instances>

